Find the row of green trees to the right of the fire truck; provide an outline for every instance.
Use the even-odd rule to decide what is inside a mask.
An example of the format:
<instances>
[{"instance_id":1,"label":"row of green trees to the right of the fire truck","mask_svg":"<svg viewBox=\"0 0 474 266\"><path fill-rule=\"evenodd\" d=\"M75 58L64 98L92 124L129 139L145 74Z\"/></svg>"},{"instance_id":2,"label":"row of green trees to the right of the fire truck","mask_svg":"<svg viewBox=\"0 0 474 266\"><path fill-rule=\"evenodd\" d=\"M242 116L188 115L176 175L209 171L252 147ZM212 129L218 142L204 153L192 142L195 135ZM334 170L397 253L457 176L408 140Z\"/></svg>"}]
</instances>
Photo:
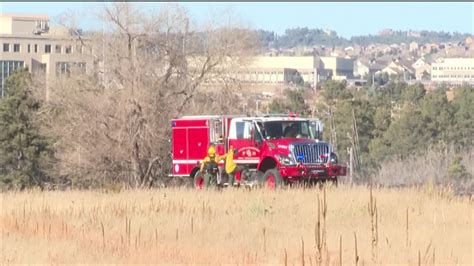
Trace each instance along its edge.
<instances>
[{"instance_id":1,"label":"row of green trees to the right of the fire truck","mask_svg":"<svg viewBox=\"0 0 474 266\"><path fill-rule=\"evenodd\" d=\"M287 90L269 108L322 117L325 139L335 137L334 145L343 161L349 160L347 150L358 146L363 176L376 172L387 161L408 160L430 149L454 149L459 154L473 147L471 87L456 88L451 101L445 88L428 93L421 84L404 82L390 81L359 91L349 90L344 82L329 81L323 87L323 98L317 103L304 100L311 98L311 92Z\"/></svg>"}]
</instances>

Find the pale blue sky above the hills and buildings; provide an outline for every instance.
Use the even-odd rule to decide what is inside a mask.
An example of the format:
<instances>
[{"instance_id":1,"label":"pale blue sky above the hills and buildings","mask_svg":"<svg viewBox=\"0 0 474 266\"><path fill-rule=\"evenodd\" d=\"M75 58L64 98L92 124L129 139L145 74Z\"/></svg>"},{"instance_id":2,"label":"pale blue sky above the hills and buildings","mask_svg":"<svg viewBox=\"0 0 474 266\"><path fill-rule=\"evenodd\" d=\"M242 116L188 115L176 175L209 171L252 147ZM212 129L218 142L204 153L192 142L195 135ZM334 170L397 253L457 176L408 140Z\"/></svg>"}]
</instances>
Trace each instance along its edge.
<instances>
[{"instance_id":1,"label":"pale blue sky above the hills and buildings","mask_svg":"<svg viewBox=\"0 0 474 266\"><path fill-rule=\"evenodd\" d=\"M0 3L5 13L47 13L50 18L64 11L96 11L103 3ZM161 3L141 3L159 8ZM247 25L283 33L292 27L335 30L338 35L376 34L395 30L436 30L473 33L474 3L182 3L197 21L209 12L232 9ZM97 26L93 16L84 29Z\"/></svg>"}]
</instances>

